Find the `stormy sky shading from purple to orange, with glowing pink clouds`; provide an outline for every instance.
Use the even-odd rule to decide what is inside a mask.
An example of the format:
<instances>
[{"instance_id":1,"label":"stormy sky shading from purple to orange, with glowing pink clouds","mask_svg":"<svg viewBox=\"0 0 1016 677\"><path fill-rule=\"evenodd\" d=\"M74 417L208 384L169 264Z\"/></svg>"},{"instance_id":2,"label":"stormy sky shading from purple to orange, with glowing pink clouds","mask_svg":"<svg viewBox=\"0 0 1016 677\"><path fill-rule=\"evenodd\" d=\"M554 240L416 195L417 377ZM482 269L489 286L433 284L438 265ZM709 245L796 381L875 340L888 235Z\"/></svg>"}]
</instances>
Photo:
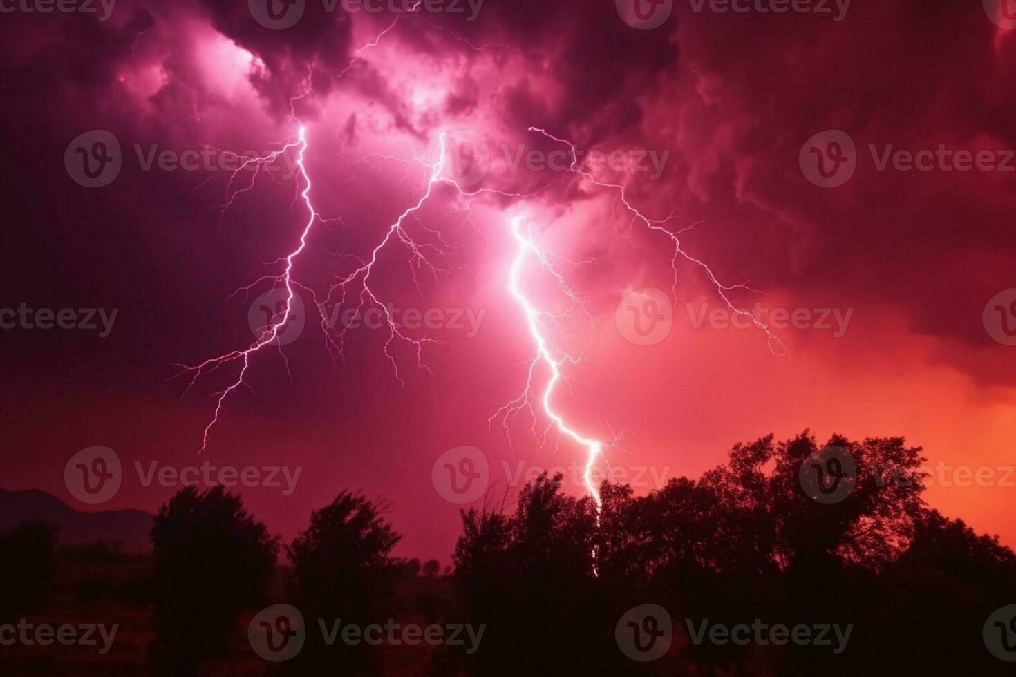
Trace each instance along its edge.
<instances>
[{"instance_id":1,"label":"stormy sky shading from purple to orange, with glowing pink clouds","mask_svg":"<svg viewBox=\"0 0 1016 677\"><path fill-rule=\"evenodd\" d=\"M648 468L642 479L653 488L653 475L696 477L734 443L768 432L905 435L933 468L992 469L987 486L933 481L927 497L1013 545L1016 474L1006 468L1016 465L1016 347L994 340L998 328L986 329L982 316L990 299L1016 287L1016 172L1004 170L1006 149L1016 148L1016 33L969 2L855 2L839 21L692 7L677 1L662 25L642 30L605 0L487 0L471 22L405 15L362 52L392 14L329 14L309 0L303 18L279 30L255 22L247 3L210 0L119 0L107 21L0 16L0 308L118 309L105 338L0 331L0 486L43 488L87 509L64 486L64 465L105 446L125 472L102 507L154 511L174 489L141 486L135 462L299 466L292 495L243 490L275 532L292 537L310 510L360 488L390 502L403 554L447 561L458 505L431 481L444 452L483 450L498 494L504 464L513 474L520 463L584 462L580 448L555 445L553 433L541 446L524 415L507 435L489 424L524 389L533 352L507 289L516 248L509 219L527 214L588 312L556 326L555 344L584 361L566 367L571 389L555 402L589 435L625 431L608 458L630 478ZM296 113L308 130L311 198L341 221L315 226L295 271L302 285L320 293L359 265L346 255L370 256L420 199L429 170L411 160L428 161L442 131L486 139L491 161L475 188L534 195L465 199L439 186L406 221L415 241L429 244L437 274L418 268L415 283L408 249L397 244L372 274L376 291L399 308L483 313L475 336L433 331L443 343L424 348L427 369L396 342L402 386L383 331L351 330L343 357L333 359L308 322L282 348L292 383L278 352L255 355L250 390L228 398L198 457L212 393L237 365L186 395L186 380L166 381L175 374L167 365L250 345L250 301L229 296L279 272L271 262L296 247L307 213L295 200L299 177L262 175L223 212L228 173L145 171L135 147L277 148L297 132L289 100L305 91L309 72L312 91ZM623 183L650 217L673 214L672 230L694 224L681 235L684 249L719 279L763 290L733 291L737 303L836 309L850 313L845 331L774 330L784 355L759 330L696 328L697 314L723 303L702 269L679 261L673 330L651 346L627 341L615 309L633 289L671 291L672 244L633 223L617 191L568 172L513 170L506 147L509 156L563 147L531 126L581 149L669 152L655 179L652 171L594 173ZM64 155L96 129L117 137L123 166L110 185L86 188ZM845 132L855 147L852 177L834 188L811 183L799 163L825 130ZM1002 166L900 171L890 159L880 171L890 145L913 154L988 150ZM532 297L565 309L547 276L531 273ZM269 286L255 286L251 298ZM546 425L537 417L537 428Z\"/></svg>"}]
</instances>

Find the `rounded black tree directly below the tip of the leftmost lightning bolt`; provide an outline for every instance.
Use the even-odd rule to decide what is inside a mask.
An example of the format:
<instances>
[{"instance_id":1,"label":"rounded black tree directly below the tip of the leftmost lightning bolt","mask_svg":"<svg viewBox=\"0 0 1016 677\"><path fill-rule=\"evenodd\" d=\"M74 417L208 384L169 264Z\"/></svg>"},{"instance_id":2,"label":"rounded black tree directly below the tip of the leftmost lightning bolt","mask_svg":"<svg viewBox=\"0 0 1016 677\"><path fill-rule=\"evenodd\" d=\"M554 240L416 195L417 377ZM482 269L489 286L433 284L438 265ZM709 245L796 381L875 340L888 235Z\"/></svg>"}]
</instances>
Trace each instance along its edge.
<instances>
[{"instance_id":1,"label":"rounded black tree directly below the tip of the leftmost lightning bolt","mask_svg":"<svg viewBox=\"0 0 1016 677\"><path fill-rule=\"evenodd\" d=\"M261 601L278 542L223 487L181 490L151 529L155 672L190 675L221 654L240 611Z\"/></svg>"}]
</instances>

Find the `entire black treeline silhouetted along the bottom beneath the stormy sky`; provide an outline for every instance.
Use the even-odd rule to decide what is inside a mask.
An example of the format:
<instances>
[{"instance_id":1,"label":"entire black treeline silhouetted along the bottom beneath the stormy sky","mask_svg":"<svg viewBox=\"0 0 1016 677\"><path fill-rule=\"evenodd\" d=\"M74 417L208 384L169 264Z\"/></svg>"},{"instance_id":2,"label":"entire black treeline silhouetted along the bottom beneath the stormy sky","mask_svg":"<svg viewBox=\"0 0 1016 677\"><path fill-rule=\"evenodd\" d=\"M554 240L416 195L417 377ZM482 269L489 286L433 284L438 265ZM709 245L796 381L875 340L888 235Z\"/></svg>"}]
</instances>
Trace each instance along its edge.
<instances>
[{"instance_id":1,"label":"entire black treeline silhouetted along the bottom beneath the stormy sky","mask_svg":"<svg viewBox=\"0 0 1016 677\"><path fill-rule=\"evenodd\" d=\"M220 487L184 489L158 512L151 532L150 668L173 675L1011 671L986 649L981 629L996 609L1016 603L1012 550L926 505L922 450L902 437L837 435L824 447L845 450L855 464L840 500L817 501L802 482L803 464L822 449L807 430L784 442L769 435L737 445L700 479L672 479L647 495L605 482L598 514L589 497L565 494L560 475L542 475L516 496L489 495L483 507L461 512L446 577L436 560L394 557L400 535L385 519L386 505L359 493L339 492L280 546L239 496ZM54 542L39 525L0 537L4 551L19 553L5 557L0 572L5 592L22 588L4 596L8 616L45 596ZM269 591L282 549L292 571ZM20 586L11 585L15 579ZM278 603L301 610L306 644L291 660L269 664L246 644L247 620ZM629 609L644 604L668 610L673 642L643 663L622 652L616 630ZM412 618L485 630L475 651L467 644L422 649L422 663L398 670L390 647L326 644L319 618L361 627ZM760 619L852 631L838 654L792 642L695 644L688 619L695 626ZM209 665L233 667L216 672Z\"/></svg>"}]
</instances>

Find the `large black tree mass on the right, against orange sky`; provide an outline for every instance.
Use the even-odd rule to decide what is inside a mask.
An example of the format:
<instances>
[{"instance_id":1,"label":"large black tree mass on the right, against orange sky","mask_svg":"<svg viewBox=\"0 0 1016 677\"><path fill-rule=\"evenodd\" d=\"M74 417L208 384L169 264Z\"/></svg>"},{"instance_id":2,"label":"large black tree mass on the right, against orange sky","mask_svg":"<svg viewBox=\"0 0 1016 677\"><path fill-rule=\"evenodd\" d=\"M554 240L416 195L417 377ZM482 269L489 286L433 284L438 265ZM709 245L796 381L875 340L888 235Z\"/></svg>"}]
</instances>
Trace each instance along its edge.
<instances>
[{"instance_id":1,"label":"large black tree mass on the right, against orange sky","mask_svg":"<svg viewBox=\"0 0 1016 677\"><path fill-rule=\"evenodd\" d=\"M455 581L468 617L490 627L477 656L455 663L446 652L442 668L1002 674L980 633L993 611L1016 603L1016 555L925 506L920 452L902 437L833 435L820 446L808 430L778 443L768 435L736 445L697 481L672 479L644 496L605 482L598 529L588 499L565 496L560 477L542 476L520 491L513 515L462 513ZM828 454L842 466L823 465ZM837 476L843 489L818 495L809 480L816 466L851 468ZM645 603L670 610L675 644L641 664L621 657L613 635L621 616ZM695 645L685 619L836 623L851 635L840 654L793 642Z\"/></svg>"}]
</instances>

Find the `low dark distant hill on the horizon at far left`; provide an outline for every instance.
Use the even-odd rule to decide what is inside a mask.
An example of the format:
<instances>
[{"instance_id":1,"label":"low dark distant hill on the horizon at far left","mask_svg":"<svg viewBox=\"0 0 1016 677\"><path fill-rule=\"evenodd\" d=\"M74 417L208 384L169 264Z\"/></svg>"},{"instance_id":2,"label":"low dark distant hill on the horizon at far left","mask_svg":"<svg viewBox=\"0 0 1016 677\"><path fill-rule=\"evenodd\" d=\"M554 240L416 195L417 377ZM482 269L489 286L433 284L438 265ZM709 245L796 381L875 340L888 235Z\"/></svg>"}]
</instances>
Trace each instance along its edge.
<instances>
[{"instance_id":1,"label":"low dark distant hill on the horizon at far left","mask_svg":"<svg viewBox=\"0 0 1016 677\"><path fill-rule=\"evenodd\" d=\"M40 520L60 528L61 545L119 542L123 552L149 552L148 534L154 516L144 511L81 513L45 491L0 489L0 531Z\"/></svg>"}]
</instances>

